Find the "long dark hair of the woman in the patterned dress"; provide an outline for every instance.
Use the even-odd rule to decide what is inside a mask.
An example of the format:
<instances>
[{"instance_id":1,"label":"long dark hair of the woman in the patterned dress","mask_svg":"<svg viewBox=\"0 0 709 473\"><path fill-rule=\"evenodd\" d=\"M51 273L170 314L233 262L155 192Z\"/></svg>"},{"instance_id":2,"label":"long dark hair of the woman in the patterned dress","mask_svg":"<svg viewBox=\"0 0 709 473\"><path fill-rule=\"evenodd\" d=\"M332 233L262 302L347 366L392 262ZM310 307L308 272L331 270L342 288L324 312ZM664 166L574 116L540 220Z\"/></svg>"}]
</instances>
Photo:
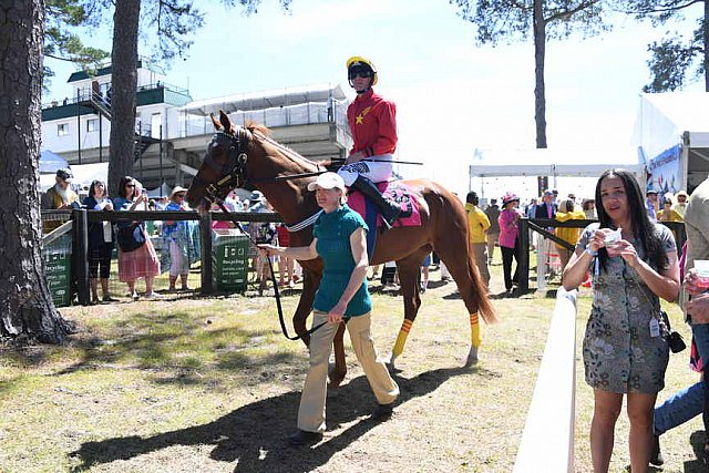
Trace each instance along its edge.
<instances>
[{"instance_id":1,"label":"long dark hair of the woman in the patterned dress","mask_svg":"<svg viewBox=\"0 0 709 473\"><path fill-rule=\"evenodd\" d=\"M628 200L630 222L633 222L633 236L636 241L640 243L640 246L645 250L645 257L649 260L650 266L657 270L666 269L669 265L667 251L655 232L655 225L647 216L640 186L630 172L626 169L608 169L598 178L596 183L596 203L599 205L596 205L596 213L598 214L598 222L600 223L599 228L614 228L613 222L610 217L608 217L608 214L606 214L603 199L600 198L600 183L606 177L618 177L623 181L623 187ZM606 248L600 248L598 258L600 259L600 267L605 270L606 263L608 261L608 251Z\"/></svg>"}]
</instances>

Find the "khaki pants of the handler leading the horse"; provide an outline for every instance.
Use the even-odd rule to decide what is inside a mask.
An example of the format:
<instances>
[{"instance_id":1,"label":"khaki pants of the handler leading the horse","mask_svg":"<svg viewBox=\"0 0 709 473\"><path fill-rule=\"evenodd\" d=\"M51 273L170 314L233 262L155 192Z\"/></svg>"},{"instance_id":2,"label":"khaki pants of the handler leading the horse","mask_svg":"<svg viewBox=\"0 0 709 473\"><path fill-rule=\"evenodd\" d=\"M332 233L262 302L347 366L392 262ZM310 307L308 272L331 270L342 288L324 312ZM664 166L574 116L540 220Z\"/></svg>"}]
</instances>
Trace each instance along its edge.
<instances>
[{"instance_id":1,"label":"khaki pants of the handler leading the horse","mask_svg":"<svg viewBox=\"0 0 709 473\"><path fill-rule=\"evenodd\" d=\"M316 311L312 325L327 321L327 313ZM347 331L352 340L357 359L362 364L369 385L377 402L391 404L399 395L399 387L389 376L383 361L377 359L377 349L370 332L371 312L352 317L347 322ZM337 323L326 323L310 337L310 370L300 395L298 429L308 432L325 431L325 400L327 398L328 361L332 350L332 339L337 333Z\"/></svg>"}]
</instances>

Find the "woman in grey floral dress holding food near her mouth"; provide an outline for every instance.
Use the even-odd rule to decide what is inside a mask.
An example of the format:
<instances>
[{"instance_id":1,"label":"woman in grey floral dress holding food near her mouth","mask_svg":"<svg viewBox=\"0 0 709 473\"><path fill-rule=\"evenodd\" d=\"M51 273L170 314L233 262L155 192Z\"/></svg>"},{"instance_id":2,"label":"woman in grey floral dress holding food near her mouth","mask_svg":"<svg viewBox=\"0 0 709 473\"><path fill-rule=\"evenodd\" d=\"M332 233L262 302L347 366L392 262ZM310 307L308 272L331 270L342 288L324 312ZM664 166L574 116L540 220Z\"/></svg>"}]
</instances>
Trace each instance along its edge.
<instances>
[{"instance_id":1,"label":"woman in grey floral dress holding food near her mouth","mask_svg":"<svg viewBox=\"0 0 709 473\"><path fill-rule=\"evenodd\" d=\"M563 276L567 290L578 287L586 271L594 281L584 337L586 382L594 388L590 455L594 472L608 471L625 394L630 471L646 472L653 408L669 360L659 298L677 299L677 248L671 232L647 217L629 172L606 171L596 184L596 202L598 223L586 227Z\"/></svg>"}]
</instances>

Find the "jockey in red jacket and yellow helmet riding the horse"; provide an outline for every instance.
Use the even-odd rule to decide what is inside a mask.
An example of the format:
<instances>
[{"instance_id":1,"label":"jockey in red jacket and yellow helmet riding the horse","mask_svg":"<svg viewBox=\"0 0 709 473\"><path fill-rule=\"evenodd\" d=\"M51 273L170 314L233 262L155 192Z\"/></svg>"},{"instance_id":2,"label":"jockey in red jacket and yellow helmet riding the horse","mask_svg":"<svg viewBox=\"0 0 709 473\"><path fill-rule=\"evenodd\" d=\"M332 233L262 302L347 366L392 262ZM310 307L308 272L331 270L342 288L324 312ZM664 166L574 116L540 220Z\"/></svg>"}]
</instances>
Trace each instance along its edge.
<instances>
[{"instance_id":1,"label":"jockey in red jacket and yellow helmet riding the horse","mask_svg":"<svg viewBox=\"0 0 709 473\"><path fill-rule=\"evenodd\" d=\"M369 198L391 227L401 207L386 199L373 183L391 177L391 163L397 148L397 105L377 95L377 69L371 61L352 56L347 60L347 78L357 97L347 109L347 121L354 144L345 165L337 172L348 187Z\"/></svg>"}]
</instances>

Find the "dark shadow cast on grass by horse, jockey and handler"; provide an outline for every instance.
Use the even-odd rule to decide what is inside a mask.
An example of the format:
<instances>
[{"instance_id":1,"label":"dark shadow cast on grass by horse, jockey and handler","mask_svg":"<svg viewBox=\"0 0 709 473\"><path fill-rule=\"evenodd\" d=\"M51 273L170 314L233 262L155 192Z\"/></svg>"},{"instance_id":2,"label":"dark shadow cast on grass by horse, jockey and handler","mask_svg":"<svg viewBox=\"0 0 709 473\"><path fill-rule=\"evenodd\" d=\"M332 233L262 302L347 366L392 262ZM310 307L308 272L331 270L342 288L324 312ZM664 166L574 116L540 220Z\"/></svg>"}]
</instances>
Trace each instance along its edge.
<instances>
[{"instance_id":1,"label":"dark shadow cast on grass by horse, jockey and handler","mask_svg":"<svg viewBox=\"0 0 709 473\"><path fill-rule=\"evenodd\" d=\"M461 374L479 372L475 368L448 368L428 371L412 379L394 376L401 389L398 403L427 395L448 379ZM483 377L489 374L482 373ZM337 436L326 433L323 441L311 449L290 448L286 438L296 430L299 401L300 393L291 391L244 405L203 425L148 438L132 435L86 442L70 454L81 461L72 472L130 460L173 445L212 445L212 459L229 463L238 461L235 472L312 471L379 424L369 415L376 402L367 379L361 376L340 388L337 400L328 403L330 430L346 423L351 425Z\"/></svg>"}]
</instances>

